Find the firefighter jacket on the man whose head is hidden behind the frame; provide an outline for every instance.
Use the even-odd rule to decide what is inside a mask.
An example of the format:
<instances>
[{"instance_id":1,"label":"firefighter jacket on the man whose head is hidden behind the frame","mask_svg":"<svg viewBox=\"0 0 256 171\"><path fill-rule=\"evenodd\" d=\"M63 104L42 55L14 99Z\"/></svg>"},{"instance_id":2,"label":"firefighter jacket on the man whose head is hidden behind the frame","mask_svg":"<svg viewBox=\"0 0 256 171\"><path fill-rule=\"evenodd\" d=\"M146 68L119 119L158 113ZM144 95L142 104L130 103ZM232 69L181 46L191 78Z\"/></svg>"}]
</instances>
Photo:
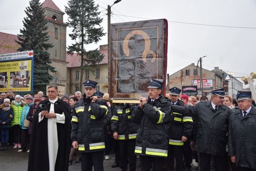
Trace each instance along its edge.
<instances>
[{"instance_id":1,"label":"firefighter jacket on the man whose head is hidden behind the frame","mask_svg":"<svg viewBox=\"0 0 256 171\"><path fill-rule=\"evenodd\" d=\"M111 118L112 132L118 133L118 140L136 139L139 125L131 121L131 112L134 105L120 104L115 107Z\"/></svg>"}]
</instances>

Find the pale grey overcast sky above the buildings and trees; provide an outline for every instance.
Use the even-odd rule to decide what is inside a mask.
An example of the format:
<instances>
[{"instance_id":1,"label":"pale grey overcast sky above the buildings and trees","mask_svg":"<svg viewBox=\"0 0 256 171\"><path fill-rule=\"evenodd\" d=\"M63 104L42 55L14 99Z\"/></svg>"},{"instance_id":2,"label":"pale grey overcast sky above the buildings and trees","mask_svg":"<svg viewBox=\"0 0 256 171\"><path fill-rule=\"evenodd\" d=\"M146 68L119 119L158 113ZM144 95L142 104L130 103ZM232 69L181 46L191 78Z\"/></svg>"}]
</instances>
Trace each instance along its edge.
<instances>
[{"instance_id":1,"label":"pale grey overcast sky above the buildings and trees","mask_svg":"<svg viewBox=\"0 0 256 171\"><path fill-rule=\"evenodd\" d=\"M99 4L101 26L107 32L107 5L115 0L95 0ZM40 0L44 2L44 0ZM67 0L53 0L65 12ZM28 0L1 0L0 32L18 34L23 28ZM148 19L168 20L168 65L170 75L202 58L202 68L219 67L234 77L256 72L256 1L255 0L122 0L111 8L111 23ZM64 15L64 22L68 16ZM71 28L67 28L67 34ZM107 35L95 49L107 44ZM67 35L67 46L71 40ZM237 78L240 80L240 78Z\"/></svg>"}]
</instances>

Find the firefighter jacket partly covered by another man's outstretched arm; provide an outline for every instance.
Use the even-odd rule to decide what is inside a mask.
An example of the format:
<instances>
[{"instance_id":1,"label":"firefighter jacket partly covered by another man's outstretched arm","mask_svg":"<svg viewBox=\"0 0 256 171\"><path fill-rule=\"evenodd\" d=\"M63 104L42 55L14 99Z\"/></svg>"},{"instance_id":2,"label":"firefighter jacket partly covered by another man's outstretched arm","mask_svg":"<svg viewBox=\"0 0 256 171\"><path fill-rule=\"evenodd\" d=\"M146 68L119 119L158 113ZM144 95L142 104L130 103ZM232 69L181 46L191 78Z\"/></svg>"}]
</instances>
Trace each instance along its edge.
<instances>
[{"instance_id":1,"label":"firefighter jacket partly covered by another man's outstretched arm","mask_svg":"<svg viewBox=\"0 0 256 171\"><path fill-rule=\"evenodd\" d=\"M175 105L185 106L184 103L178 99ZM193 119L190 116L182 115L180 113L172 112L171 124L168 129L169 145L182 146L182 136L189 138L193 131Z\"/></svg>"}]
</instances>

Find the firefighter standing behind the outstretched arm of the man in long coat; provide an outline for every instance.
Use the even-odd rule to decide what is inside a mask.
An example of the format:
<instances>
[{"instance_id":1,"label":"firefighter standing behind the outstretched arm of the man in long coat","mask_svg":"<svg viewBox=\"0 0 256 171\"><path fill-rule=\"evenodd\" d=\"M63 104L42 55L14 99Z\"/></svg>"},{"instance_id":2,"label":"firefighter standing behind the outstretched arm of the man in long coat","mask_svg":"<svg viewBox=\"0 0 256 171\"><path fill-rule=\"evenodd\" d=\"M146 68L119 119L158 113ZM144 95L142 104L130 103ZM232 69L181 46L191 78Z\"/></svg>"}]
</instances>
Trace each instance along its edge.
<instances>
[{"instance_id":1,"label":"firefighter standing behind the outstretched arm of the man in long coat","mask_svg":"<svg viewBox=\"0 0 256 171\"><path fill-rule=\"evenodd\" d=\"M170 90L170 102L172 105L185 106L183 101L179 99L181 89L173 87ZM188 147L190 148L189 137L193 131L193 119L190 116L185 116L180 113L172 113L171 125L168 129L169 145L167 157L167 170L174 170L174 157L176 161L176 171L183 171L183 146L188 140ZM187 145L187 144L186 144ZM185 161L190 165L190 149L185 148L188 152L184 155ZM187 166L189 167L189 166ZM190 166L191 168L191 166ZM186 168L190 170L190 168Z\"/></svg>"}]
</instances>

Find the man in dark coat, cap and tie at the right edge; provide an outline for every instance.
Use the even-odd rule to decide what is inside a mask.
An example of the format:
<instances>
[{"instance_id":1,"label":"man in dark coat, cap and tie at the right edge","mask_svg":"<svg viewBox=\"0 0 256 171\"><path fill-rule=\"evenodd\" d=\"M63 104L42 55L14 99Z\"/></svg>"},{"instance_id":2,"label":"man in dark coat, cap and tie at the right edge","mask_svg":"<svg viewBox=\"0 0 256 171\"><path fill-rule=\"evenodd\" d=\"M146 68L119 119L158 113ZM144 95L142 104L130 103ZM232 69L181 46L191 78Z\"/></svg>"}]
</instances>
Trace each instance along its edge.
<instances>
[{"instance_id":1,"label":"man in dark coat, cap and tie at the right edge","mask_svg":"<svg viewBox=\"0 0 256 171\"><path fill-rule=\"evenodd\" d=\"M240 171L256 170L256 108L251 97L251 91L238 91L240 109L229 118L228 156Z\"/></svg>"}]
</instances>

